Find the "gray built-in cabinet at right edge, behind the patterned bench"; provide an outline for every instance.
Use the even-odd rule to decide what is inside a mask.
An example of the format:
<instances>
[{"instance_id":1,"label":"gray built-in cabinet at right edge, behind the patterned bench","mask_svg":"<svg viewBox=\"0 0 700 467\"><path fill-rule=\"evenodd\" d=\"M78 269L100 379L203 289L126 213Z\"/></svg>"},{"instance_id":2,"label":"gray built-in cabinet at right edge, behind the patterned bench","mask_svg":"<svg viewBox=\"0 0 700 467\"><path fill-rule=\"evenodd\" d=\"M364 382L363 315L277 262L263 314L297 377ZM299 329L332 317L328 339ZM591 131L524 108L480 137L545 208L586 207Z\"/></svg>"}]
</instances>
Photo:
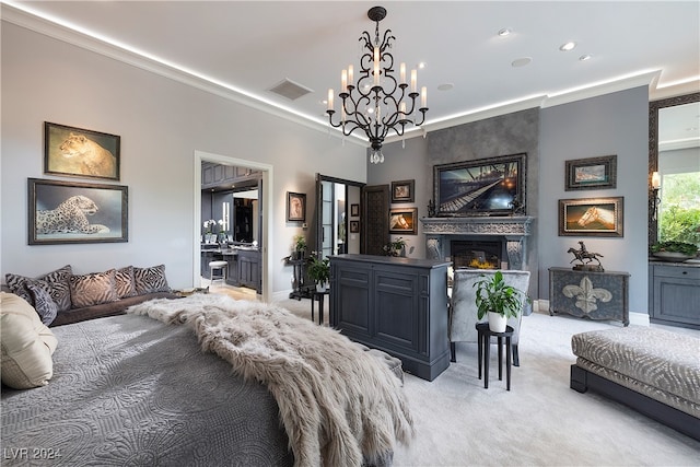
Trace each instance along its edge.
<instances>
[{"instance_id":1,"label":"gray built-in cabinet at right edge, behind the patterned bench","mask_svg":"<svg viewBox=\"0 0 700 467\"><path fill-rule=\"evenodd\" d=\"M700 265L649 264L652 323L700 329Z\"/></svg>"}]
</instances>

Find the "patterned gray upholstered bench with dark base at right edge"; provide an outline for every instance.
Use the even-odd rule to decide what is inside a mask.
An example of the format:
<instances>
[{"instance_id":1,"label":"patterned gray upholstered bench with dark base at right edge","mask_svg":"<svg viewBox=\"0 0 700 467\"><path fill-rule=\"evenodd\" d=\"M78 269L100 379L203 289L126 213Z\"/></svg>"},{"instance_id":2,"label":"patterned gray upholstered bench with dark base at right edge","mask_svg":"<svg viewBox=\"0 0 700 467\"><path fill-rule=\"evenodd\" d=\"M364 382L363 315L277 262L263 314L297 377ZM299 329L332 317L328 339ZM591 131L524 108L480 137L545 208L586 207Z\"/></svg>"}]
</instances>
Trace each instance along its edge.
<instances>
[{"instance_id":1,"label":"patterned gray upholstered bench with dark base at right edge","mask_svg":"<svg viewBox=\"0 0 700 467\"><path fill-rule=\"evenodd\" d=\"M593 389L700 440L700 339L641 326L581 332L571 388Z\"/></svg>"}]
</instances>

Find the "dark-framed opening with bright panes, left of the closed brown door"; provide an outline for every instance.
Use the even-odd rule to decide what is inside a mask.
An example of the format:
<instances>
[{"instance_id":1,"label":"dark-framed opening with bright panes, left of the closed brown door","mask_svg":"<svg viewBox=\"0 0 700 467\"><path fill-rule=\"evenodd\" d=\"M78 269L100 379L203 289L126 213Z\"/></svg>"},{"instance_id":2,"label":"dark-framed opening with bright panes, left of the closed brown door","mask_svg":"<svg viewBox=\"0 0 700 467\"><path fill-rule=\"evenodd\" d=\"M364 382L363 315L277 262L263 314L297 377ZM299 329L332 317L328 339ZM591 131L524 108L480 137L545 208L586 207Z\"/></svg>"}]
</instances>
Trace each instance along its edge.
<instances>
[{"instance_id":1,"label":"dark-framed opening with bright panes, left of the closed brown door","mask_svg":"<svg viewBox=\"0 0 700 467\"><path fill-rule=\"evenodd\" d=\"M322 257L360 253L359 206L363 184L316 174L316 243ZM354 222L354 224L353 224Z\"/></svg>"}]
</instances>

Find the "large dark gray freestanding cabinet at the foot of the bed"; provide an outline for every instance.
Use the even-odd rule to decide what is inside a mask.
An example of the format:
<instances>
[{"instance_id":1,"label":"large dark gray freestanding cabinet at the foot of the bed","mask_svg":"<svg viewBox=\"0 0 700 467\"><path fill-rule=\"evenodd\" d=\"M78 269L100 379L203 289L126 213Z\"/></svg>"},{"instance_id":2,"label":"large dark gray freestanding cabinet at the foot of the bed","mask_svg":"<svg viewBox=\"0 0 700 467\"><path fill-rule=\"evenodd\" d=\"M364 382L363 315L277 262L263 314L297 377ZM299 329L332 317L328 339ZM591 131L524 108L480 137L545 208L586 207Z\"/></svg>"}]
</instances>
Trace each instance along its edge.
<instances>
[{"instance_id":1,"label":"large dark gray freestanding cabinet at the foot of the bed","mask_svg":"<svg viewBox=\"0 0 700 467\"><path fill-rule=\"evenodd\" d=\"M330 326L433 381L450 365L447 266L372 255L330 257Z\"/></svg>"}]
</instances>

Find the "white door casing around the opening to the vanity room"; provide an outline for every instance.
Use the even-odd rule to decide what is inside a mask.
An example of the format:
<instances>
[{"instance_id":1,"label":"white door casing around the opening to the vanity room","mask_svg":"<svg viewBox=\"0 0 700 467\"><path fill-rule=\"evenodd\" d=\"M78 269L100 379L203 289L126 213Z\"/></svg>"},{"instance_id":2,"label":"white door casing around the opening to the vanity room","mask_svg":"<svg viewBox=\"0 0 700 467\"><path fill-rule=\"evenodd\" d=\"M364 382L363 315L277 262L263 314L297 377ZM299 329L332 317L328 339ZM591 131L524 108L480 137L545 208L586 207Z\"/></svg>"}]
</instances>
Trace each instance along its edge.
<instances>
[{"instance_id":1,"label":"white door casing around the opening to the vanity room","mask_svg":"<svg viewBox=\"0 0 700 467\"><path fill-rule=\"evenodd\" d=\"M259 209L259 227L260 227L260 254L261 254L261 299L264 302L272 301L272 242L273 227L272 215L273 208L270 202L272 199L272 180L273 168L270 164L264 164L257 161L247 161L243 159L226 156L222 154L213 154L203 151L195 151L194 157L194 245L192 245L192 283L199 283L201 273L201 244L199 242L201 236L201 185L202 185L202 162L211 162L214 164L221 164L226 166L245 167L253 171L259 171L261 174L261 187L259 188L260 202Z\"/></svg>"}]
</instances>

